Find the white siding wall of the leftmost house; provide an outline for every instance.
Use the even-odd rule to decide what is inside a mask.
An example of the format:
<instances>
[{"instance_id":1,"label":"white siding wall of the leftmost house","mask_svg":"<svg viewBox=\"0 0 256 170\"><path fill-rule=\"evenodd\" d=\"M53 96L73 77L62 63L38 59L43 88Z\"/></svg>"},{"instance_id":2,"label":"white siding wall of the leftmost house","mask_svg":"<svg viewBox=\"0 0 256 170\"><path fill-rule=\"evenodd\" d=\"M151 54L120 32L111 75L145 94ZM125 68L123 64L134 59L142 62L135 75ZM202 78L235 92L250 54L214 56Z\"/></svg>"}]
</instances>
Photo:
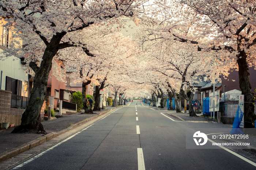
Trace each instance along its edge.
<instances>
[{"instance_id":1,"label":"white siding wall of the leftmost house","mask_svg":"<svg viewBox=\"0 0 256 170\"><path fill-rule=\"evenodd\" d=\"M0 53L2 51L3 50L0 49ZM0 55L3 56L2 54ZM0 76L1 76L1 71L3 71L1 90L5 90L6 76L8 76L8 77L15 78L22 81L21 96L28 97L29 89L25 91L24 85L25 85L25 80L29 84L29 74L27 74L26 71L23 69L22 63L19 58L14 56L8 57L8 58L6 57L0 58Z\"/></svg>"}]
</instances>

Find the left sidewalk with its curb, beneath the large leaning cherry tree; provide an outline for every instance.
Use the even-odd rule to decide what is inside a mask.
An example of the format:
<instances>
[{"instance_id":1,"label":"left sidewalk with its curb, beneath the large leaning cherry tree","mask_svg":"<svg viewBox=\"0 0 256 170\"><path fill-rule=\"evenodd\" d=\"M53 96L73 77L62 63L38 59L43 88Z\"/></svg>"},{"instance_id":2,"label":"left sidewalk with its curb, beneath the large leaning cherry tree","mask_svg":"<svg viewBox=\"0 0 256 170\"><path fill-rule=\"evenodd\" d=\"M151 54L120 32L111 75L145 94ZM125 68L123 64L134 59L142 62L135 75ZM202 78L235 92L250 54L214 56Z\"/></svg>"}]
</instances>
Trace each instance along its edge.
<instances>
[{"instance_id":1,"label":"left sidewalk with its curb, beneath the large leaning cherry tree","mask_svg":"<svg viewBox=\"0 0 256 170\"><path fill-rule=\"evenodd\" d=\"M60 118L53 120L42 121L41 123L47 132L46 135L30 133L11 134L13 128L0 130L0 162L38 146L118 107L107 106L105 108L102 111L95 111L94 114L81 114L82 112L80 112L72 115L61 115Z\"/></svg>"}]
</instances>

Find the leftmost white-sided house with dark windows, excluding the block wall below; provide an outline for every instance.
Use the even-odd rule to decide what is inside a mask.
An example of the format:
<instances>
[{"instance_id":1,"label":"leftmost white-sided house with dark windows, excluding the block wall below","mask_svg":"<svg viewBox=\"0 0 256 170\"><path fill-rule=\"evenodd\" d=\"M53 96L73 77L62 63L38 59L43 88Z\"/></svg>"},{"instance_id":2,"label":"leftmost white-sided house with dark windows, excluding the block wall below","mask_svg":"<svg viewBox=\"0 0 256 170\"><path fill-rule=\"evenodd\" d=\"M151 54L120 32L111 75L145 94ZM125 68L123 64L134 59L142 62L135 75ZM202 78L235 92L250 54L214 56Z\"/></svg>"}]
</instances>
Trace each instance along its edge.
<instances>
[{"instance_id":1,"label":"leftmost white-sided house with dark windows, excluding the block wall below","mask_svg":"<svg viewBox=\"0 0 256 170\"><path fill-rule=\"evenodd\" d=\"M13 40L12 31L0 24L0 35L0 52L2 52L8 48L8 43ZM22 44L22 40L19 42ZM22 47L20 46L20 48ZM22 61L22 58L5 57L0 54L0 89L12 92L12 99L18 101L18 104L13 101L11 106L17 108L26 107L31 88L30 75L23 69L25 63Z\"/></svg>"}]
</instances>

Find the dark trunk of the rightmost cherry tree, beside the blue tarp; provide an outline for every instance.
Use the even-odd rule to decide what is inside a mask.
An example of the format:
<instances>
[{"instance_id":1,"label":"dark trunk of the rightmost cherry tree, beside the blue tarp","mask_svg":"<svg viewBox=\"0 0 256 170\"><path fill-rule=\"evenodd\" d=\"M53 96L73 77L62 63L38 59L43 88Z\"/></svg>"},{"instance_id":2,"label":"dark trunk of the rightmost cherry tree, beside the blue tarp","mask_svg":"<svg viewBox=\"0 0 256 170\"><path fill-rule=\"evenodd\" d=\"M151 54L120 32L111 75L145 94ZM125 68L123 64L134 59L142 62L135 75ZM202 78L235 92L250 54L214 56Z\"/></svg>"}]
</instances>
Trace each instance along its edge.
<instances>
[{"instance_id":1,"label":"dark trunk of the rightmost cherry tree, beside the blue tarp","mask_svg":"<svg viewBox=\"0 0 256 170\"><path fill-rule=\"evenodd\" d=\"M238 63L238 76L239 76L239 86L244 94L244 127L253 128L253 123L256 120L256 115L254 114L254 97L252 92L252 85L249 81L250 73L248 72L248 65L246 63L246 54L244 51L240 51L237 56Z\"/></svg>"}]
</instances>

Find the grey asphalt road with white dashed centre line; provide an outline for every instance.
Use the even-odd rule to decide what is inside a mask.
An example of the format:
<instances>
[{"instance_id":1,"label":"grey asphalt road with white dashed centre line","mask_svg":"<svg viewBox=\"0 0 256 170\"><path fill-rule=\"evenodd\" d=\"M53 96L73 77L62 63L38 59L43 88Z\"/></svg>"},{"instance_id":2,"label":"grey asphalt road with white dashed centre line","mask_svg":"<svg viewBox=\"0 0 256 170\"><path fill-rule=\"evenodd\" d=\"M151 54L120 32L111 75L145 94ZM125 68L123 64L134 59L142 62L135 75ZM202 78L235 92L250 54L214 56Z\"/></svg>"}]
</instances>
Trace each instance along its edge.
<instances>
[{"instance_id":1,"label":"grey asphalt road with white dashed centre line","mask_svg":"<svg viewBox=\"0 0 256 170\"><path fill-rule=\"evenodd\" d=\"M189 149L193 129L220 124L181 122L133 101L15 169L256 169L255 162L207 143ZM192 132L193 133L193 132ZM209 148L210 147L210 148ZM254 163L254 164L253 164Z\"/></svg>"}]
</instances>

